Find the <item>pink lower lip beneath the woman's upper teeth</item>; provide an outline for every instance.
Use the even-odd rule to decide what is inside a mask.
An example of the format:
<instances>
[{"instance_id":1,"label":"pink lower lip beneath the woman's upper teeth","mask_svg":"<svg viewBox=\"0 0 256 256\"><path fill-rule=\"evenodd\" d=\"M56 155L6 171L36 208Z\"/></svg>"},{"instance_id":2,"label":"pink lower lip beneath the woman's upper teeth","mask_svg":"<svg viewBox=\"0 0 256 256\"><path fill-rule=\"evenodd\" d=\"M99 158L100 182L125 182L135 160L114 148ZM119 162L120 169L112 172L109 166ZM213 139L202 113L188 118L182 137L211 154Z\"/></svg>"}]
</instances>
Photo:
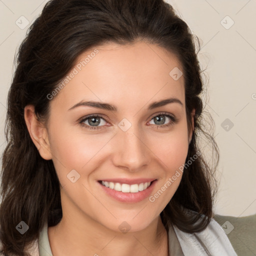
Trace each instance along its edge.
<instances>
[{"instance_id":1,"label":"pink lower lip beneath the woman's upper teeth","mask_svg":"<svg viewBox=\"0 0 256 256\"><path fill-rule=\"evenodd\" d=\"M97 183L100 187L112 198L121 201L121 202L139 202L144 200L145 198L149 197L150 193L152 192L154 185L156 183L156 179L153 180L150 185L143 191L138 191L136 193L124 193L122 191L116 191L109 187L102 185L100 182Z\"/></svg>"}]
</instances>

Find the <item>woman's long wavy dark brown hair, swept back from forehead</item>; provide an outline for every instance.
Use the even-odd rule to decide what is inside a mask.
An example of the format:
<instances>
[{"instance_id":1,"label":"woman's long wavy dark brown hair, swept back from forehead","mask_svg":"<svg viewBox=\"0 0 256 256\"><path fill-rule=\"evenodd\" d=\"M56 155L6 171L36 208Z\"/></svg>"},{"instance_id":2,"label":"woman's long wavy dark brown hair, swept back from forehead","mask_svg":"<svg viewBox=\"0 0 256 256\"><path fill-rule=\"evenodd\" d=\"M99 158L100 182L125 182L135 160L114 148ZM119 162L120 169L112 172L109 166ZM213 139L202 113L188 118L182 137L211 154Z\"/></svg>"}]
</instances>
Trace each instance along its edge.
<instances>
[{"instance_id":1,"label":"woman's long wavy dark brown hair, swept back from forehead","mask_svg":"<svg viewBox=\"0 0 256 256\"><path fill-rule=\"evenodd\" d=\"M209 130L202 129L202 70L197 59L199 48L197 52L195 48L198 38L163 0L50 0L19 47L8 93L0 205L4 255L29 255L24 250L38 238L44 222L56 225L62 217L53 162L43 159L33 144L24 121L24 107L34 105L38 119L46 122L50 103L47 95L81 53L107 42L124 45L137 40L174 53L182 65L188 129L190 113L195 108L186 161L199 150L201 137L208 140L215 152L215 165L210 167L201 152L184 169L180 185L160 216L166 228L171 221L189 233L201 231L209 223L216 191L213 173L219 153ZM187 209L194 214L187 214ZM29 226L23 235L15 228L21 220Z\"/></svg>"}]
</instances>

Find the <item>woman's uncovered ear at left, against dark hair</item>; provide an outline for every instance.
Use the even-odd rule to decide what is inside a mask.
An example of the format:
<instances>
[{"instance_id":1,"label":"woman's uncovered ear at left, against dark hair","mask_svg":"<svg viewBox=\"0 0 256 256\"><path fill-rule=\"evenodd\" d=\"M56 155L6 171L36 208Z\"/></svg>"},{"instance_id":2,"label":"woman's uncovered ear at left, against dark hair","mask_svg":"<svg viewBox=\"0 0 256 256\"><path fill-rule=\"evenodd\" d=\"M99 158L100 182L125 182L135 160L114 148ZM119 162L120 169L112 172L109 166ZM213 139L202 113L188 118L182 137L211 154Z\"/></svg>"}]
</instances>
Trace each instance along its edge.
<instances>
[{"instance_id":1,"label":"woman's uncovered ear at left, against dark hair","mask_svg":"<svg viewBox=\"0 0 256 256\"><path fill-rule=\"evenodd\" d=\"M24 107L24 118L29 135L41 157L45 160L52 159L47 129L36 118L33 105L26 105Z\"/></svg>"}]
</instances>

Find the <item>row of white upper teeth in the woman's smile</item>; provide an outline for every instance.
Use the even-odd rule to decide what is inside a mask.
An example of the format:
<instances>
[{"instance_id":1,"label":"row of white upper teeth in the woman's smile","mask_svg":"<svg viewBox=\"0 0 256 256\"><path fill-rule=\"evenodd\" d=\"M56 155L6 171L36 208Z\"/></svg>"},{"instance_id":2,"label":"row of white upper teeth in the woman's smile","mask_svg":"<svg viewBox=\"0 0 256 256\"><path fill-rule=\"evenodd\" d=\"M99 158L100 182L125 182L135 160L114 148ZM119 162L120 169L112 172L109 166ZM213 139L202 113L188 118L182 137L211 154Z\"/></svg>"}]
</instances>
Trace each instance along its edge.
<instances>
[{"instance_id":1,"label":"row of white upper teeth in the woman's smile","mask_svg":"<svg viewBox=\"0 0 256 256\"><path fill-rule=\"evenodd\" d=\"M108 181L101 181L101 184L109 187L111 189L114 189L116 191L122 191L123 193L136 193L138 191L143 191L145 190L151 182L144 182L144 183L139 183L139 184L120 184L118 182L108 182Z\"/></svg>"}]
</instances>

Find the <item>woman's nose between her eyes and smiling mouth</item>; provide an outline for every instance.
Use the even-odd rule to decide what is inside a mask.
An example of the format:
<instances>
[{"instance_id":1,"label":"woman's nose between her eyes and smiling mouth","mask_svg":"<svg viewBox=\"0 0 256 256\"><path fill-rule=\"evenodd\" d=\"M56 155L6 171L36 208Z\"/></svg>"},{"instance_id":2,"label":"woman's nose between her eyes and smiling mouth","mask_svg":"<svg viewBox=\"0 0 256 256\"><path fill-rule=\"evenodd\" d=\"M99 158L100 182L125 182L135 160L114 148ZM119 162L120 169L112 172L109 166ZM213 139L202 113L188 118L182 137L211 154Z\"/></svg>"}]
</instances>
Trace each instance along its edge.
<instances>
[{"instance_id":1,"label":"woman's nose between her eyes and smiling mouth","mask_svg":"<svg viewBox=\"0 0 256 256\"><path fill-rule=\"evenodd\" d=\"M145 136L133 128L133 125L127 131L119 130L117 133L113 145L113 164L132 172L148 165L150 150L146 145Z\"/></svg>"}]
</instances>

